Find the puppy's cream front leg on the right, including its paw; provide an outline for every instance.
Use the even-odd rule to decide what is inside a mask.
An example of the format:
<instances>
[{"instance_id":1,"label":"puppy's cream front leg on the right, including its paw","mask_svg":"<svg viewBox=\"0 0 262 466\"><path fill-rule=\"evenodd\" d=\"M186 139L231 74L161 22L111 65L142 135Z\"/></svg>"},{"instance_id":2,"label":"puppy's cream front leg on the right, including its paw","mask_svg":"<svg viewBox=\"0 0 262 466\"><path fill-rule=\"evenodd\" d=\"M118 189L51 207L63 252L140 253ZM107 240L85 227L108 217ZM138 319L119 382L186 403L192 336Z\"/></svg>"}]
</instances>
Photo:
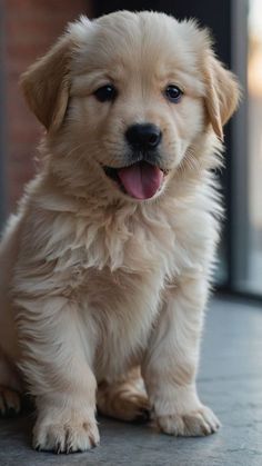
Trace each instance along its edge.
<instances>
[{"instance_id":1,"label":"puppy's cream front leg on the right, including its paw","mask_svg":"<svg viewBox=\"0 0 262 466\"><path fill-rule=\"evenodd\" d=\"M209 435L220 426L195 388L206 290L201 279L169 289L142 368L155 422L175 436Z\"/></svg>"}]
</instances>

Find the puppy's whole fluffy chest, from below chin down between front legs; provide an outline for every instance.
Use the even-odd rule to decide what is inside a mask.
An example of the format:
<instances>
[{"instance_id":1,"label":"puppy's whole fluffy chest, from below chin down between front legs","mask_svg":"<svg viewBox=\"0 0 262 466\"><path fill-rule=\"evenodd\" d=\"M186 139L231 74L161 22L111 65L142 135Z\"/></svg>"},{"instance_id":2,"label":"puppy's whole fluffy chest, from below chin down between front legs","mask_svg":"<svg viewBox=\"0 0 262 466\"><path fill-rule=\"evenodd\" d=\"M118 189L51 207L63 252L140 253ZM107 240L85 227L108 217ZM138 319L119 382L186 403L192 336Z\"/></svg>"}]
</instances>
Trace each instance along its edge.
<instances>
[{"instance_id":1,"label":"puppy's whole fluffy chest, from below chin down between front legs","mask_svg":"<svg viewBox=\"0 0 262 466\"><path fill-rule=\"evenodd\" d=\"M167 286L209 271L216 237L211 196L201 190L193 202L170 198L164 207L104 209L90 201L79 208L54 194L44 197L42 188L31 204L30 190L36 195L39 186L31 185L23 206L16 294L20 303L36 297L39 306L47 297L77 304L85 357L98 380L113 378L141 360Z\"/></svg>"}]
</instances>

